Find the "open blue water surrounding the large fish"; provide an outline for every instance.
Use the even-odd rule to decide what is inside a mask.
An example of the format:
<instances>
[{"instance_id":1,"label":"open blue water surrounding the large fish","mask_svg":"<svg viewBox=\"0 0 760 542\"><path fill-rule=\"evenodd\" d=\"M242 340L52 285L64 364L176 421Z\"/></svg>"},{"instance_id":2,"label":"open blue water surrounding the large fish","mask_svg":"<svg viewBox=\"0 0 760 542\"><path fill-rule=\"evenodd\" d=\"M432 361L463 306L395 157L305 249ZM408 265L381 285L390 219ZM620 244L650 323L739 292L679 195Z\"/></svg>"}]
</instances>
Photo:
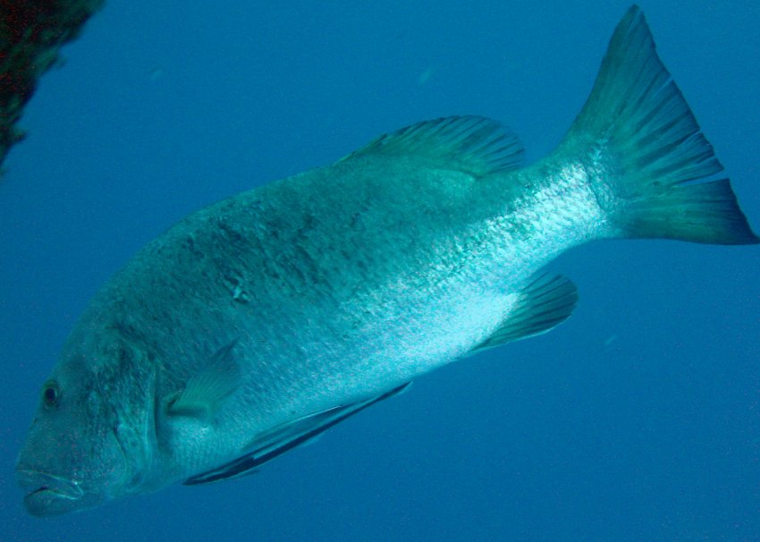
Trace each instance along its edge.
<instances>
[{"instance_id":1,"label":"open blue water surrounding the large fish","mask_svg":"<svg viewBox=\"0 0 760 542\"><path fill-rule=\"evenodd\" d=\"M646 2L760 230L760 5ZM224 11L213 6L224 5ZM190 211L484 114L549 152L627 1L110 2L0 185L0 539L760 540L760 248L606 241L551 334L420 378L259 474L37 520L13 462L98 286Z\"/></svg>"}]
</instances>

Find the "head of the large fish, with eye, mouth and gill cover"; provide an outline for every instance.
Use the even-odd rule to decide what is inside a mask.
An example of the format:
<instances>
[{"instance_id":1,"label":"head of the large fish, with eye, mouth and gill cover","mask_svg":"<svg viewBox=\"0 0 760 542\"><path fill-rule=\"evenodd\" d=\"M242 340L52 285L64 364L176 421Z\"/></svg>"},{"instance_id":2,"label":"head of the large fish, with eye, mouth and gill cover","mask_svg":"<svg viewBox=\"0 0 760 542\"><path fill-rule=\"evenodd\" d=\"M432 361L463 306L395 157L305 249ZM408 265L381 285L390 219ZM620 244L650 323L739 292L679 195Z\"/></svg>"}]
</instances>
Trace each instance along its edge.
<instances>
[{"instance_id":1,"label":"head of the large fish, with eye, mouth and gill cover","mask_svg":"<svg viewBox=\"0 0 760 542\"><path fill-rule=\"evenodd\" d=\"M144 465L135 460L139 437L127 417L141 409L130 403L129 375L119 370L123 351L117 355L122 359L97 363L76 351L63 355L42 385L16 463L30 514L83 510L135 492L136 471Z\"/></svg>"}]
</instances>

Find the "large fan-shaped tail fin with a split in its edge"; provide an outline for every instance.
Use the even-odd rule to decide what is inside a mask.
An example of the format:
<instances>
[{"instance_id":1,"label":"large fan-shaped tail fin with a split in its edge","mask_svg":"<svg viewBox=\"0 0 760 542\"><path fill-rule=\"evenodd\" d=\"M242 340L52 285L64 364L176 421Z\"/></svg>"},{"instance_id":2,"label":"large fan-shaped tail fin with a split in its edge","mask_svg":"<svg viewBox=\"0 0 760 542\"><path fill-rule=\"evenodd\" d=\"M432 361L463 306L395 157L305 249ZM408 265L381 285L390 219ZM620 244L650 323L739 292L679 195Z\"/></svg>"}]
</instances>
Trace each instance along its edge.
<instances>
[{"instance_id":1,"label":"large fan-shaped tail fin with a split in its edge","mask_svg":"<svg viewBox=\"0 0 760 542\"><path fill-rule=\"evenodd\" d=\"M597 191L627 237L715 244L760 242L680 89L632 6L615 29L594 89L562 148L592 149Z\"/></svg>"}]
</instances>

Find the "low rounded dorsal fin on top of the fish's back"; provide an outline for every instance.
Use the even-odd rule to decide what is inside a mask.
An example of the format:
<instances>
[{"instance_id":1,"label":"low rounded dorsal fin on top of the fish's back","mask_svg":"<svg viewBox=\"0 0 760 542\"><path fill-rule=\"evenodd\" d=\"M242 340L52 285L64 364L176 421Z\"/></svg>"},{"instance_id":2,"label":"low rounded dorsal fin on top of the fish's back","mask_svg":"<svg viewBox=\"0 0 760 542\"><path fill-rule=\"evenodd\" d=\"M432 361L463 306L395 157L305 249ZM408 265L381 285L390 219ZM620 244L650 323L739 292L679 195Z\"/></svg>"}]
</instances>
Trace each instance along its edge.
<instances>
[{"instance_id":1,"label":"low rounded dorsal fin on top of the fish's back","mask_svg":"<svg viewBox=\"0 0 760 542\"><path fill-rule=\"evenodd\" d=\"M518 169L524 152L518 137L500 123L482 116L449 116L386 133L342 161L370 155L415 156L482 177Z\"/></svg>"}]
</instances>

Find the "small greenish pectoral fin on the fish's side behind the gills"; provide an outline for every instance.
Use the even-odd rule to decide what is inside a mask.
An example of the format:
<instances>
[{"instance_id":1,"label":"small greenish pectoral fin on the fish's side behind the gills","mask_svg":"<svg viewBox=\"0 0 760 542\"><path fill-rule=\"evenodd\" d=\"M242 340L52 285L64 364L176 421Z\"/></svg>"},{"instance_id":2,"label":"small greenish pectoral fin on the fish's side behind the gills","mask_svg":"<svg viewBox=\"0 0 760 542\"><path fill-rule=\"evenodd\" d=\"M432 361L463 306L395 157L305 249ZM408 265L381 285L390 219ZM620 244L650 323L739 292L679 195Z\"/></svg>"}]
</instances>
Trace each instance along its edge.
<instances>
[{"instance_id":1,"label":"small greenish pectoral fin on the fish's side behind the gills","mask_svg":"<svg viewBox=\"0 0 760 542\"><path fill-rule=\"evenodd\" d=\"M240 368L233 355L237 339L225 344L206 367L191 377L184 389L165 399L166 415L186 416L204 421L213 419L219 406L240 385Z\"/></svg>"}]
</instances>

